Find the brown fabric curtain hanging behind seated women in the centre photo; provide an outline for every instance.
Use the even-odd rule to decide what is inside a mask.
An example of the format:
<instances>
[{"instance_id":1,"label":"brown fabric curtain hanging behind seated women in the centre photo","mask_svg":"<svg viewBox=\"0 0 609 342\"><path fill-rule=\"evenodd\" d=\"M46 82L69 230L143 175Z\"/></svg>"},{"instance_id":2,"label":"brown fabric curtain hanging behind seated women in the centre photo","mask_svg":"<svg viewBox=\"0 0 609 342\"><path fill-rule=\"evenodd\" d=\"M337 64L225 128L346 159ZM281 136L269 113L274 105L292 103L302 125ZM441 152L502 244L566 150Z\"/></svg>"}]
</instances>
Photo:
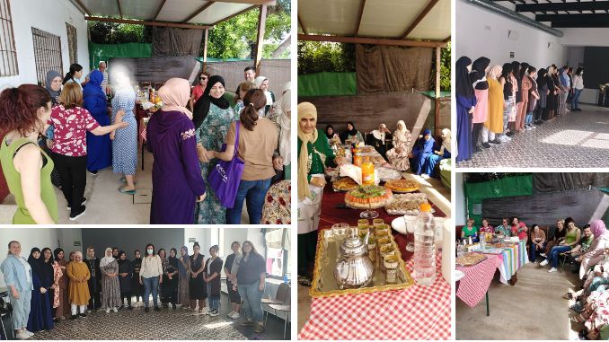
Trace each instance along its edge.
<instances>
[{"instance_id":1,"label":"brown fabric curtain hanging behind seated women in the centre photo","mask_svg":"<svg viewBox=\"0 0 609 342\"><path fill-rule=\"evenodd\" d=\"M428 91L433 48L356 45L357 93Z\"/></svg>"}]
</instances>

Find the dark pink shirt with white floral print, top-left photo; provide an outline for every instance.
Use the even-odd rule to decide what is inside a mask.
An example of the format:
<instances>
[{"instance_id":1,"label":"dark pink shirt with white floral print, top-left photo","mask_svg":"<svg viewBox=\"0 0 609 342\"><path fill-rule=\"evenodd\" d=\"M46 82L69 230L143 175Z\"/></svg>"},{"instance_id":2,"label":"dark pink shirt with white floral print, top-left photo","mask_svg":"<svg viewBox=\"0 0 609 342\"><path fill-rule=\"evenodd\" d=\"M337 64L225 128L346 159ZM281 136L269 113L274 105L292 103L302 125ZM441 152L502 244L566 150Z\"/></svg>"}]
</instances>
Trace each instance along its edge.
<instances>
[{"instance_id":1,"label":"dark pink shirt with white floral print, top-left photo","mask_svg":"<svg viewBox=\"0 0 609 342\"><path fill-rule=\"evenodd\" d=\"M51 151L71 157L87 154L86 132L100 127L89 110L81 107L66 110L63 105L51 110L49 125L55 127Z\"/></svg>"}]
</instances>

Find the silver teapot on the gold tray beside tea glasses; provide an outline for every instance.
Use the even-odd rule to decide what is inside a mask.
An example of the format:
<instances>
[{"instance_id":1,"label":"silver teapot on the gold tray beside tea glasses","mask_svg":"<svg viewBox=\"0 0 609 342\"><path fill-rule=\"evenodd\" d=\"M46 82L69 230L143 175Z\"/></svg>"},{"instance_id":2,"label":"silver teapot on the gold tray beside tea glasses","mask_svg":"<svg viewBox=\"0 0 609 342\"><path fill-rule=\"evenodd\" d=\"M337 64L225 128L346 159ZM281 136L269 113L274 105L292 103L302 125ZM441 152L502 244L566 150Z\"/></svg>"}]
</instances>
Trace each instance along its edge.
<instances>
[{"instance_id":1,"label":"silver teapot on the gold tray beside tea glasses","mask_svg":"<svg viewBox=\"0 0 609 342\"><path fill-rule=\"evenodd\" d=\"M365 287L372 282L375 267L368 258L367 240L370 232L362 241L357 237L357 229L352 229L350 237L340 245L340 258L334 270L334 278L339 288Z\"/></svg>"}]
</instances>

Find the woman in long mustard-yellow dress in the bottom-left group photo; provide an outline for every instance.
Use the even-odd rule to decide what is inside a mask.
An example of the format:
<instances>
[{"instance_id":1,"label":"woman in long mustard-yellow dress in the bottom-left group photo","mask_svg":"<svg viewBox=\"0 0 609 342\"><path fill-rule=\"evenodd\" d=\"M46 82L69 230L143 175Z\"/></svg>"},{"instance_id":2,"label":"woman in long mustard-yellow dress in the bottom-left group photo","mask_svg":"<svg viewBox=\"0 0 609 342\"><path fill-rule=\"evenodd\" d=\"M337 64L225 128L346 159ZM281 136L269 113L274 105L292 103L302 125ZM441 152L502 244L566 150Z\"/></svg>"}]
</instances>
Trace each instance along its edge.
<instances>
[{"instance_id":1,"label":"woman in long mustard-yellow dress in the bottom-left group photo","mask_svg":"<svg viewBox=\"0 0 609 342\"><path fill-rule=\"evenodd\" d=\"M72 308L71 319L76 320L79 315L86 317L87 303L89 303L91 298L87 282L91 277L91 273L89 272L89 267L83 262L83 253L75 251L74 261L67 264L66 272L70 278L68 298Z\"/></svg>"}]
</instances>

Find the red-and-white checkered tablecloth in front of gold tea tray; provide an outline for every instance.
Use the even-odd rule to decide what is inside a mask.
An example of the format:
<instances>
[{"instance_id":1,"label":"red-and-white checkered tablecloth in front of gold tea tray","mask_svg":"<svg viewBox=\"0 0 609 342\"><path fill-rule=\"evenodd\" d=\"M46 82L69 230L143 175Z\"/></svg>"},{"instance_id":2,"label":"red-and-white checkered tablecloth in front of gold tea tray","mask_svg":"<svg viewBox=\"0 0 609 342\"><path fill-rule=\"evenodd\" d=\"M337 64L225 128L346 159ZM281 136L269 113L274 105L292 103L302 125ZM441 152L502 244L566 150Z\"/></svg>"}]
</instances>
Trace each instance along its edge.
<instances>
[{"instance_id":1,"label":"red-and-white checkered tablecloth in front of gold tea tray","mask_svg":"<svg viewBox=\"0 0 609 342\"><path fill-rule=\"evenodd\" d=\"M450 285L437 257L436 282L400 291L313 298L298 339L449 339ZM412 272L413 259L406 263Z\"/></svg>"}]
</instances>

